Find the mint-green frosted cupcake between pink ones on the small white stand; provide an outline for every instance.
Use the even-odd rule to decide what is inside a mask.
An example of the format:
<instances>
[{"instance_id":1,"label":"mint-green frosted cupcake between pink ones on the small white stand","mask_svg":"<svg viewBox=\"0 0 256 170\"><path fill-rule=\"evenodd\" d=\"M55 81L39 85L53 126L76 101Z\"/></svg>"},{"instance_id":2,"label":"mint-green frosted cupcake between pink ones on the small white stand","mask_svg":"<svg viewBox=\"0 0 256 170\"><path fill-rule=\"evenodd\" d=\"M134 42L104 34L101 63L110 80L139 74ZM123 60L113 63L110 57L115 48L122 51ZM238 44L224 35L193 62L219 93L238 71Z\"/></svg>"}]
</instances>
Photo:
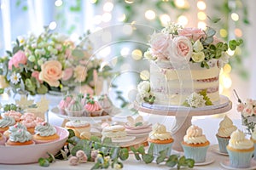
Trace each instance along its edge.
<instances>
[{"instance_id":1,"label":"mint-green frosted cupcake between pink ones on the small white stand","mask_svg":"<svg viewBox=\"0 0 256 170\"><path fill-rule=\"evenodd\" d=\"M72 99L66 109L67 116L84 116L84 108L79 99Z\"/></svg>"}]
</instances>

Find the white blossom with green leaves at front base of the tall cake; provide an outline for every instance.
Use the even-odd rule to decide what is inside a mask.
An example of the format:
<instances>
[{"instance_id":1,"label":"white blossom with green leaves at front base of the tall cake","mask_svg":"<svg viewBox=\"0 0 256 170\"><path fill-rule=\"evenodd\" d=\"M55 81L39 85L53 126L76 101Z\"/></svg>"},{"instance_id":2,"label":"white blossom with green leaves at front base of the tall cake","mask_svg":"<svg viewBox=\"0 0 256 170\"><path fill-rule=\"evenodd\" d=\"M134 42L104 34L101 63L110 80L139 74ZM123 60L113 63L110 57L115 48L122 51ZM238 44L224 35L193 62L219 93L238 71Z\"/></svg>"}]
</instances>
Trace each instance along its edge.
<instances>
[{"instance_id":1,"label":"white blossom with green leaves at front base of the tall cake","mask_svg":"<svg viewBox=\"0 0 256 170\"><path fill-rule=\"evenodd\" d=\"M199 93L192 93L183 102L184 106L187 107L203 107L206 105L212 105L211 99L207 96L207 89L201 90Z\"/></svg>"}]
</instances>

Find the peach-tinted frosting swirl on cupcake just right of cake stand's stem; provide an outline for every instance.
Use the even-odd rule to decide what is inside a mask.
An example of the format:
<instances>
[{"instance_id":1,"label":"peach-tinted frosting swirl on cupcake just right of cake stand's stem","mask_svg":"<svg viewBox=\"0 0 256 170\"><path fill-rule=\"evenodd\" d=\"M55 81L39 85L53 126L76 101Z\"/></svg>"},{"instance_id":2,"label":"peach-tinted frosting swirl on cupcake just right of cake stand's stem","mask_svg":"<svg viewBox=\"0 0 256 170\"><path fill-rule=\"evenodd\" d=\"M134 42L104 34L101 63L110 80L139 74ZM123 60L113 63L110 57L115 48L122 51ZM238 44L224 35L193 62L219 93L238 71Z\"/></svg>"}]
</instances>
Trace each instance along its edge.
<instances>
[{"instance_id":1,"label":"peach-tinted frosting swirl on cupcake just right of cake stand's stem","mask_svg":"<svg viewBox=\"0 0 256 170\"><path fill-rule=\"evenodd\" d=\"M203 144L207 142L207 138L202 133L201 127L192 125L187 129L186 135L183 137L183 141L187 144Z\"/></svg>"}]
</instances>

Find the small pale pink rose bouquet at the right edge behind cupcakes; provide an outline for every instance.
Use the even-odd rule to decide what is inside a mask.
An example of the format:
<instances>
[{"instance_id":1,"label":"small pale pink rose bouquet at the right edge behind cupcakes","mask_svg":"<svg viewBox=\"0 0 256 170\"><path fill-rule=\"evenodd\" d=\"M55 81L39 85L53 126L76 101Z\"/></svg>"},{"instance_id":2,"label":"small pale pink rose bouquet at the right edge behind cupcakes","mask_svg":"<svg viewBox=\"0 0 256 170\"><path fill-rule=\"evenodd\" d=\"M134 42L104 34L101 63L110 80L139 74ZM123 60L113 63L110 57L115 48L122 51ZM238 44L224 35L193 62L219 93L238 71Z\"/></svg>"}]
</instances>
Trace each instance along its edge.
<instances>
[{"instance_id":1,"label":"small pale pink rose bouquet at the right edge behind cupcakes","mask_svg":"<svg viewBox=\"0 0 256 170\"><path fill-rule=\"evenodd\" d=\"M236 94L236 90L234 90ZM247 99L245 103L236 94L238 105L236 111L241 113L242 125L247 127L247 133L252 134L256 125L256 99Z\"/></svg>"}]
</instances>

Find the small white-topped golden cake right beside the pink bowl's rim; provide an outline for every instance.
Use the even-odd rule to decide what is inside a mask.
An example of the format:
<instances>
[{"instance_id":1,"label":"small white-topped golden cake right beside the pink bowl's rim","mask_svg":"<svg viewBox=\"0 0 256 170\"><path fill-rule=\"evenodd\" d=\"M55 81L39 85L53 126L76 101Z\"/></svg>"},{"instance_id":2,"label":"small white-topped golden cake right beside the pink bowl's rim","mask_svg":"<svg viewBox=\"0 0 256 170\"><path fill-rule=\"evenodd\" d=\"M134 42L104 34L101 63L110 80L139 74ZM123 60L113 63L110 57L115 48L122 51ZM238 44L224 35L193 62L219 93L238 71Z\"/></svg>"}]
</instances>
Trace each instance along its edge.
<instances>
[{"instance_id":1,"label":"small white-topped golden cake right beside the pink bowl's rim","mask_svg":"<svg viewBox=\"0 0 256 170\"><path fill-rule=\"evenodd\" d=\"M90 132L90 123L81 120L75 120L67 122L65 127L67 129L72 129L75 135L81 138L81 133Z\"/></svg>"}]
</instances>

